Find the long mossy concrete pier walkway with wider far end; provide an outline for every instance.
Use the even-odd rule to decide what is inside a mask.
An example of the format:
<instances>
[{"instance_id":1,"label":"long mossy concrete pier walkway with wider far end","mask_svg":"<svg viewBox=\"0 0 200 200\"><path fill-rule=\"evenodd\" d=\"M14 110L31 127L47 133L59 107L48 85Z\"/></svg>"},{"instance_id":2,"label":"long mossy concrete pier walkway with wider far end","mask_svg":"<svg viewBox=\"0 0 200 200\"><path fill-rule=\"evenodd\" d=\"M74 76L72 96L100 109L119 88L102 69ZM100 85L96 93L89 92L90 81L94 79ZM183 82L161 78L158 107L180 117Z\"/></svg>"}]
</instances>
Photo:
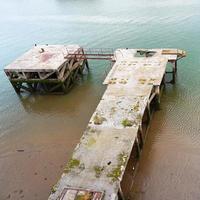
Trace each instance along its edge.
<instances>
[{"instance_id":1,"label":"long mossy concrete pier walkway with wider far end","mask_svg":"<svg viewBox=\"0 0 200 200\"><path fill-rule=\"evenodd\" d=\"M116 62L104 81L107 89L49 200L124 199L125 169L133 149L136 156L142 149L144 124L152 106L160 103L167 63L172 63L174 79L177 60L184 56L170 49L115 51Z\"/></svg>"}]
</instances>

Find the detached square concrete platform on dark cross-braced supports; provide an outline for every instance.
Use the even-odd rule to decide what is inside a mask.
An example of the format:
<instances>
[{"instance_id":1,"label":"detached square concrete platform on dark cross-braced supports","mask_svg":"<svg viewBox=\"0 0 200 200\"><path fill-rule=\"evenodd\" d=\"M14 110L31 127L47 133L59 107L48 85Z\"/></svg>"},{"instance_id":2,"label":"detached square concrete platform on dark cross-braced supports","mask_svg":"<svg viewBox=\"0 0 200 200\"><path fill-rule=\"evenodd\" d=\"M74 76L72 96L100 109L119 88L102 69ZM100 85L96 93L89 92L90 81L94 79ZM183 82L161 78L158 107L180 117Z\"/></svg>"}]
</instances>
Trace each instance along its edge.
<instances>
[{"instance_id":1,"label":"detached square concrete platform on dark cross-braced supports","mask_svg":"<svg viewBox=\"0 0 200 200\"><path fill-rule=\"evenodd\" d=\"M79 54L79 58L69 56ZM15 91L66 93L87 59L78 45L35 45L4 68Z\"/></svg>"}]
</instances>

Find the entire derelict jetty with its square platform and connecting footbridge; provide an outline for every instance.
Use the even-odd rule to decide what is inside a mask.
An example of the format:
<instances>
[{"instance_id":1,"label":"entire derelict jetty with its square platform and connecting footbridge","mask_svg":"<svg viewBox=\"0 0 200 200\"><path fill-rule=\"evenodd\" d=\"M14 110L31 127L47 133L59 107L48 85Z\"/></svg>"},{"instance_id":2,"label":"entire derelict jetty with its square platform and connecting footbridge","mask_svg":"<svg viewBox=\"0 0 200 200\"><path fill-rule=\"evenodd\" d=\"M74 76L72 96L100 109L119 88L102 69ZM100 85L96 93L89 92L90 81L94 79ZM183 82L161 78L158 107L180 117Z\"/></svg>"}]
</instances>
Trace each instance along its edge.
<instances>
[{"instance_id":1,"label":"entire derelict jetty with its square platform and connecting footbridge","mask_svg":"<svg viewBox=\"0 0 200 200\"><path fill-rule=\"evenodd\" d=\"M178 49L87 52L78 45L45 45L34 47L5 68L18 93L66 92L83 67L88 67L89 59L113 63L103 83L105 93L49 200L125 199L129 187L123 181L133 181L152 113L160 106L165 84L175 83L177 62L185 56ZM166 71L169 67L170 72ZM168 73L170 81L166 81ZM130 169L132 175L127 176Z\"/></svg>"}]
</instances>

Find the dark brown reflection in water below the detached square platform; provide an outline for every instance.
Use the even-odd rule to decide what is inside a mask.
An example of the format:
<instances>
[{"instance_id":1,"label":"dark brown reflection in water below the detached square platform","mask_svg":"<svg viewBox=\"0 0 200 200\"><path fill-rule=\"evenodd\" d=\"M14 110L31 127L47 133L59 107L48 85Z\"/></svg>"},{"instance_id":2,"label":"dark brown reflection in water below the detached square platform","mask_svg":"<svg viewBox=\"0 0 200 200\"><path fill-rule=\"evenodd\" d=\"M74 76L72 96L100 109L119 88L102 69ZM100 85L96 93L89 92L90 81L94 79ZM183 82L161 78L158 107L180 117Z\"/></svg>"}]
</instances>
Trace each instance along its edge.
<instances>
[{"instance_id":1,"label":"dark brown reflection in water below the detached square platform","mask_svg":"<svg viewBox=\"0 0 200 200\"><path fill-rule=\"evenodd\" d=\"M86 81L86 80L85 80ZM94 87L90 85L76 84L67 95L41 95L41 94L21 94L18 95L21 105L28 113L35 114L74 114L77 113L84 101L87 101ZM73 91L72 91L73 90ZM75 91L76 90L76 91ZM72 93L73 92L73 98ZM81 96L81 101L79 97Z\"/></svg>"}]
</instances>

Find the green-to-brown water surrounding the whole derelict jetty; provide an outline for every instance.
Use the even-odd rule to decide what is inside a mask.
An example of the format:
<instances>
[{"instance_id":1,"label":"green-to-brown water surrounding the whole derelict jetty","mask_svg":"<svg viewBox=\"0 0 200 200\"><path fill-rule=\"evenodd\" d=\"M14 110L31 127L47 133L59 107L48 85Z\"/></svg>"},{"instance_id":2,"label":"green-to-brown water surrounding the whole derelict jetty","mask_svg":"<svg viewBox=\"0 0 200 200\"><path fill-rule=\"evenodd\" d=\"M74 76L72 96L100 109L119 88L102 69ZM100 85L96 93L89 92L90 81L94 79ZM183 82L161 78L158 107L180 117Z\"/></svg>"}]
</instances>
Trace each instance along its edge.
<instances>
[{"instance_id":1,"label":"green-to-brown water surrounding the whole derelict jetty","mask_svg":"<svg viewBox=\"0 0 200 200\"><path fill-rule=\"evenodd\" d=\"M0 200L47 199L103 94L108 63L65 96L15 94L3 67L35 43L175 47L178 80L154 115L132 198L200 198L200 2L7 0L0 2Z\"/></svg>"}]
</instances>

